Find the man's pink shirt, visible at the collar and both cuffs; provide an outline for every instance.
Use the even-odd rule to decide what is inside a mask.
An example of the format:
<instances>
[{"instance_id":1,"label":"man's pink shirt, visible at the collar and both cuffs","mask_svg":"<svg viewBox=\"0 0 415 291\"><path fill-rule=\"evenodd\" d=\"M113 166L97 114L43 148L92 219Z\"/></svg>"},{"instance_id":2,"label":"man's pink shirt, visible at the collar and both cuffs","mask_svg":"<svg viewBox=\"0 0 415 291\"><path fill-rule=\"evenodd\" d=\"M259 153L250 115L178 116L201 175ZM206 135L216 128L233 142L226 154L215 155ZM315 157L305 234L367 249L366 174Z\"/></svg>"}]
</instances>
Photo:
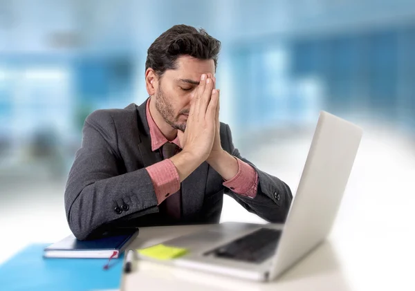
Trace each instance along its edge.
<instances>
[{"instance_id":1,"label":"man's pink shirt, visible at the collar and both cuffs","mask_svg":"<svg viewBox=\"0 0 415 291\"><path fill-rule=\"evenodd\" d=\"M146 115L150 129L151 151L157 151L160 147L163 147L163 144L168 142L168 140L165 138L160 129L158 129L156 122L154 122L151 117L149 104L150 98L146 105ZM172 142L181 149L178 137L172 140ZM236 157L235 159L237 159L239 166L238 173L234 176L234 178L223 182L223 186L228 187L234 193L241 196L255 198L258 188L257 172L246 162L243 162ZM146 169L149 173L151 181L153 182L158 205L165 200L167 193L176 193L176 191L180 189L180 178L178 177L176 166L174 166L171 160L165 159L154 165L146 167Z\"/></svg>"}]
</instances>

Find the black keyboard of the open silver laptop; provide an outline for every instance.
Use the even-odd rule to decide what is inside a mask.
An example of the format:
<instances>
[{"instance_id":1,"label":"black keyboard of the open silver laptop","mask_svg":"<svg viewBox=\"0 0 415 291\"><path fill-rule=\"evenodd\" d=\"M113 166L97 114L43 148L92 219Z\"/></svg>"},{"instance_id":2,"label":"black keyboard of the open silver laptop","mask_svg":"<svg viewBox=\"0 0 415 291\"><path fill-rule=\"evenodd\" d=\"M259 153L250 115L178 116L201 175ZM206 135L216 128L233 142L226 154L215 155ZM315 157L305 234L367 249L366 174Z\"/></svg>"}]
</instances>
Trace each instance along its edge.
<instances>
[{"instance_id":1,"label":"black keyboard of the open silver laptop","mask_svg":"<svg viewBox=\"0 0 415 291\"><path fill-rule=\"evenodd\" d=\"M262 263L273 256L281 231L277 229L261 228L235 241L222 245L208 254L219 258L244 261L248 263Z\"/></svg>"}]
</instances>

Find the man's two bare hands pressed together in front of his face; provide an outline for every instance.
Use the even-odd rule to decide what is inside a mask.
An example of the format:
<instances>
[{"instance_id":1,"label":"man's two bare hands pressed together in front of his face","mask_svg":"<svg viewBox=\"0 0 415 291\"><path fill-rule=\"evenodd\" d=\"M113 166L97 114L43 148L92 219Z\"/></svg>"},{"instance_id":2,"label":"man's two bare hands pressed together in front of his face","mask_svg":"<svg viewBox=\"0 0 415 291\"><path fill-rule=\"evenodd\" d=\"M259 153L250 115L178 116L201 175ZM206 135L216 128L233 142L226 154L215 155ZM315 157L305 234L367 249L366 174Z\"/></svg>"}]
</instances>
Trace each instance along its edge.
<instances>
[{"instance_id":1,"label":"man's two bare hands pressed together in front of his face","mask_svg":"<svg viewBox=\"0 0 415 291\"><path fill-rule=\"evenodd\" d=\"M170 158L183 181L202 162L208 162L221 176L230 179L237 174L237 161L221 147L219 133L219 93L216 79L203 74L190 102L185 132L178 131L183 151Z\"/></svg>"}]
</instances>

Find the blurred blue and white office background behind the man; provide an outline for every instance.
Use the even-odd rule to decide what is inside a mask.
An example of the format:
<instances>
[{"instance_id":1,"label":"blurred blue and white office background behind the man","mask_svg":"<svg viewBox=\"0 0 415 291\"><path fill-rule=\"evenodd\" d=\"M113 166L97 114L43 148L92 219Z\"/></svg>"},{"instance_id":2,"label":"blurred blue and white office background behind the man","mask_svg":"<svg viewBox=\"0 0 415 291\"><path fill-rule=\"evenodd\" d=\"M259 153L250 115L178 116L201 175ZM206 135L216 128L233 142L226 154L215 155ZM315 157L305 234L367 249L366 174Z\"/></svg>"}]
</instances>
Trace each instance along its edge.
<instances>
[{"instance_id":1,"label":"blurred blue and white office background behind the man","mask_svg":"<svg viewBox=\"0 0 415 291\"><path fill-rule=\"evenodd\" d=\"M394 207L407 218L415 1L1 0L3 233L68 234L64 185L86 115L147 98L147 48L174 24L221 40L221 121L243 156L295 194L318 113L335 113L365 129L339 220L387 224ZM262 221L228 198L222 220Z\"/></svg>"}]
</instances>

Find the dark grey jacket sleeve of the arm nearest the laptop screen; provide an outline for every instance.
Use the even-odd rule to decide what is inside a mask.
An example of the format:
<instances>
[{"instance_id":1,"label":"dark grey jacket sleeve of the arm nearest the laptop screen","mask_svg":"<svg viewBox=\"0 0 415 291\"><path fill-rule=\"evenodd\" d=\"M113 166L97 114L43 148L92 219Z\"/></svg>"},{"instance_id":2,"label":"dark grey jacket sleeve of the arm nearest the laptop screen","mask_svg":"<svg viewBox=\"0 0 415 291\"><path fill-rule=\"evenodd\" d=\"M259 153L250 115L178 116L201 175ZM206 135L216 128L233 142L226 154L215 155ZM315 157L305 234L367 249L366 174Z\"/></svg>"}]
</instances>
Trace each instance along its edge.
<instances>
[{"instance_id":1,"label":"dark grey jacket sleeve of the arm nearest the laptop screen","mask_svg":"<svg viewBox=\"0 0 415 291\"><path fill-rule=\"evenodd\" d=\"M229 125L225 124L225 128L225 136L227 136L229 144L228 152L248 163L258 173L258 187L255 198L238 195L228 188L225 188L225 194L237 200L248 212L255 213L270 223L284 223L293 200L290 187L279 178L259 170L252 162L242 158L232 142Z\"/></svg>"}]
</instances>

